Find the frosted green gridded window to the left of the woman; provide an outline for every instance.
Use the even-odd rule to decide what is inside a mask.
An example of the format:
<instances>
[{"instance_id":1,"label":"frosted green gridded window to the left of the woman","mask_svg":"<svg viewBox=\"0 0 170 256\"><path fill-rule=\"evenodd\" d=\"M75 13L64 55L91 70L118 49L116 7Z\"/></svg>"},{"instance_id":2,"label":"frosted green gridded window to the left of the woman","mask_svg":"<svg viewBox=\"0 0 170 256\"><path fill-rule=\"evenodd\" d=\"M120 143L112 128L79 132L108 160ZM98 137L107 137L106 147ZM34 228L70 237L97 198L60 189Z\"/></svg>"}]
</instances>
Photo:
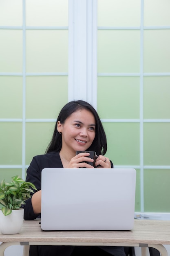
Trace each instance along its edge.
<instances>
[{"instance_id":1,"label":"frosted green gridded window to the left of the woman","mask_svg":"<svg viewBox=\"0 0 170 256\"><path fill-rule=\"evenodd\" d=\"M25 178L68 101L68 0L0 1L0 180Z\"/></svg>"}]
</instances>

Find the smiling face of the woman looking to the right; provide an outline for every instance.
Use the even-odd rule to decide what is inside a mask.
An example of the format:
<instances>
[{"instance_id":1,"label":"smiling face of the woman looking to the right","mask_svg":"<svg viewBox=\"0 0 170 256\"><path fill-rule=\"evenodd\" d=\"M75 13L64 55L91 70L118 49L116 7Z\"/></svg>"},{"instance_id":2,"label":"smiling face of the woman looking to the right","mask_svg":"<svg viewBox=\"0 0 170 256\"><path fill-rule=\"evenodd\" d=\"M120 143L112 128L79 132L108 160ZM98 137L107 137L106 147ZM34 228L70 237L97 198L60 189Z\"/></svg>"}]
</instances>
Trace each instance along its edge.
<instances>
[{"instance_id":1,"label":"smiling face of the woman looking to the right","mask_svg":"<svg viewBox=\"0 0 170 256\"><path fill-rule=\"evenodd\" d=\"M95 117L85 109L73 112L57 130L62 132L62 150L75 154L77 150L86 150L95 138Z\"/></svg>"}]
</instances>

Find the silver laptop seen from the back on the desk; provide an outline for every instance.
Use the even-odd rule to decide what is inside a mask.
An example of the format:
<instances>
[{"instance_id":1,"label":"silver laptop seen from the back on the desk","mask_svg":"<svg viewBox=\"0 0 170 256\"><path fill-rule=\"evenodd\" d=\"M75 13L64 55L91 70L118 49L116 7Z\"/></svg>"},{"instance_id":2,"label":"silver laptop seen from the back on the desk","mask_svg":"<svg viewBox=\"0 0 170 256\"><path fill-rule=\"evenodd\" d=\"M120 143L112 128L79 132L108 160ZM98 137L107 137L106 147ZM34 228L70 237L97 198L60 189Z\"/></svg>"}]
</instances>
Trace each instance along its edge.
<instances>
[{"instance_id":1,"label":"silver laptop seen from the back on the desk","mask_svg":"<svg viewBox=\"0 0 170 256\"><path fill-rule=\"evenodd\" d=\"M130 230L135 169L44 168L42 230Z\"/></svg>"}]
</instances>

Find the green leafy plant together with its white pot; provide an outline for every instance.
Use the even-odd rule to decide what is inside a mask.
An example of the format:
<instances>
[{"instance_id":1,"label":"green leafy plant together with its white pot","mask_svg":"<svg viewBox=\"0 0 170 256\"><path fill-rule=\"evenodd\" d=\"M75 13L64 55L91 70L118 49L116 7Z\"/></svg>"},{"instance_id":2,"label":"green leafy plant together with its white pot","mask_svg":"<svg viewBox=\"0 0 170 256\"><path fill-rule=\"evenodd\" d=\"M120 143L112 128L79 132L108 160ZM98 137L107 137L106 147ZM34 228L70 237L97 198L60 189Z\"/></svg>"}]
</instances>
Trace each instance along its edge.
<instances>
[{"instance_id":1,"label":"green leafy plant together with its white pot","mask_svg":"<svg viewBox=\"0 0 170 256\"><path fill-rule=\"evenodd\" d=\"M0 231L2 234L17 234L23 223L25 204L31 193L37 190L31 182L25 182L21 177L14 176L11 182L0 182Z\"/></svg>"}]
</instances>

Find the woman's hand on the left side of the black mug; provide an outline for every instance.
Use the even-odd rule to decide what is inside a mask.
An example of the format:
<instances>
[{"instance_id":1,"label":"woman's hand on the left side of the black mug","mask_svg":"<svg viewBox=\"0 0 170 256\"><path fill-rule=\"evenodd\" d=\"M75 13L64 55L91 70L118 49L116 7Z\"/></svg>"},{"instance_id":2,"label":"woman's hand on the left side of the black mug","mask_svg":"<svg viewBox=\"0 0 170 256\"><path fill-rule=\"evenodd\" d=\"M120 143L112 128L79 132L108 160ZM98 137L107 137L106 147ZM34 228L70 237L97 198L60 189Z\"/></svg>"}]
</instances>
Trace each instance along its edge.
<instances>
[{"instance_id":1,"label":"woman's hand on the left side of the black mug","mask_svg":"<svg viewBox=\"0 0 170 256\"><path fill-rule=\"evenodd\" d=\"M94 159L88 157L90 153L79 153L75 157L73 157L67 168L94 168L91 164L87 162L94 162ZM85 162L84 162L85 161Z\"/></svg>"}]
</instances>

